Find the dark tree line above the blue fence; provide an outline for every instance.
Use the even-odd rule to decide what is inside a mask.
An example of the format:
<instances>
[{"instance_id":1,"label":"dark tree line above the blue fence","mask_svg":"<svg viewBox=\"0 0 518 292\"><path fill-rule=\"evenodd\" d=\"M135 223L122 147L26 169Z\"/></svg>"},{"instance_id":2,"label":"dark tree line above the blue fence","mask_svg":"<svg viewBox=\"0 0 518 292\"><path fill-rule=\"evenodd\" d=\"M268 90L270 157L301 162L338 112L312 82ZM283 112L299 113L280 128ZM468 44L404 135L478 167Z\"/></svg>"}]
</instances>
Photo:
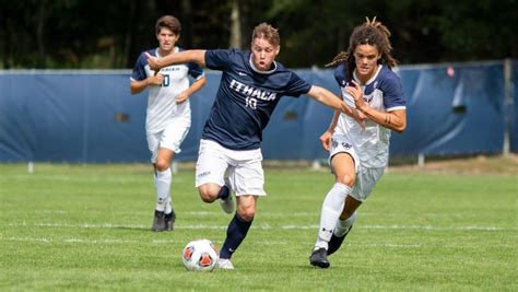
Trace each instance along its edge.
<instances>
[{"instance_id":1,"label":"dark tree line above the blue fence","mask_svg":"<svg viewBox=\"0 0 518 292\"><path fill-rule=\"evenodd\" d=\"M157 45L164 14L180 20L184 48L248 48L254 26L269 22L279 60L294 68L329 62L365 16L389 27L402 65L518 56L517 0L0 0L0 66L132 68Z\"/></svg>"}]
</instances>

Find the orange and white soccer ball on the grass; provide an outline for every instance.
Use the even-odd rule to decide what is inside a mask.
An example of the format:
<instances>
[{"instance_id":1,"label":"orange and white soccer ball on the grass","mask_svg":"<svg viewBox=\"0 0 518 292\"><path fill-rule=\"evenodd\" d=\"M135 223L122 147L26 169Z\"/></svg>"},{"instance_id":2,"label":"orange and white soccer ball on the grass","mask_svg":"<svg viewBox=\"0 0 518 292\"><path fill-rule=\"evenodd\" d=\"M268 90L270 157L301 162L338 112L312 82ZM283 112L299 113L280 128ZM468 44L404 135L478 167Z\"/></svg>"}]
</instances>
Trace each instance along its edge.
<instances>
[{"instance_id":1,"label":"orange and white soccer ball on the grass","mask_svg":"<svg viewBox=\"0 0 518 292\"><path fill-rule=\"evenodd\" d=\"M217 265L220 254L211 241L197 240L186 245L181 258L189 271L212 271Z\"/></svg>"}]
</instances>

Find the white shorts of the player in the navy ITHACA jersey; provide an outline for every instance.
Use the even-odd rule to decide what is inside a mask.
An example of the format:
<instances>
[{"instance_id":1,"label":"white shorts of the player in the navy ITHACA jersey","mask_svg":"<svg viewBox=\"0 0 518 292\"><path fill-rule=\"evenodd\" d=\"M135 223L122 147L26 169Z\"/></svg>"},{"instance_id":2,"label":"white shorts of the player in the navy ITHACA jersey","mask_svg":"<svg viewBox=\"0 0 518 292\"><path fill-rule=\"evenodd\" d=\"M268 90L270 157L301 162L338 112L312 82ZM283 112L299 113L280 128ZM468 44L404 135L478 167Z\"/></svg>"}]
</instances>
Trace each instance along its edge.
<instances>
[{"instance_id":1,"label":"white shorts of the player in the navy ITHACA jersey","mask_svg":"<svg viewBox=\"0 0 518 292\"><path fill-rule=\"evenodd\" d=\"M260 149L236 151L211 140L201 140L196 163L196 187L213 183L227 184L236 196L266 196Z\"/></svg>"}]
</instances>

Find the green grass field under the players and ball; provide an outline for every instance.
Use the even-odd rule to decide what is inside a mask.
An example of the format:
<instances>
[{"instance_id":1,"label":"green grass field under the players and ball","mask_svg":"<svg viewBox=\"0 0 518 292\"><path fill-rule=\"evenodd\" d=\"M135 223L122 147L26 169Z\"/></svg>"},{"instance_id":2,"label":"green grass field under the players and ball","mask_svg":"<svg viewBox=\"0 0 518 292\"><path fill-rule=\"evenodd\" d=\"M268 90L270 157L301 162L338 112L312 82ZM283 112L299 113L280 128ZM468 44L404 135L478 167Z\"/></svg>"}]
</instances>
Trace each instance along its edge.
<instances>
[{"instance_id":1,"label":"green grass field under the players and ball","mask_svg":"<svg viewBox=\"0 0 518 292\"><path fill-rule=\"evenodd\" d=\"M235 270L188 272L191 240L225 237L193 172L174 175L174 232L150 231L149 165L0 164L0 291L517 291L518 176L384 176L329 269L309 266L327 172L266 170Z\"/></svg>"}]
</instances>

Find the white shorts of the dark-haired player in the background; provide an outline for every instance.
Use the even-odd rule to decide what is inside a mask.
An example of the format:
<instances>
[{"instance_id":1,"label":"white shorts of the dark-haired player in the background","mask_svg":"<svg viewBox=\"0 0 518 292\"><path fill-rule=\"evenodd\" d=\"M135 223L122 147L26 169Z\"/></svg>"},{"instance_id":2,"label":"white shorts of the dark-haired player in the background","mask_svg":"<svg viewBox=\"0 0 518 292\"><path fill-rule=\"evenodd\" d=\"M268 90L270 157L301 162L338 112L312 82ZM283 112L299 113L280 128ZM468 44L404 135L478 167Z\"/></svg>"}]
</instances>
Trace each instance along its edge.
<instances>
[{"instance_id":1,"label":"white shorts of the dark-haired player in the background","mask_svg":"<svg viewBox=\"0 0 518 292\"><path fill-rule=\"evenodd\" d=\"M160 132L148 132L148 148L151 152L151 163L156 163L158 149L166 148L180 153L180 144L186 139L190 128L190 118L175 118L169 126Z\"/></svg>"}]
</instances>

